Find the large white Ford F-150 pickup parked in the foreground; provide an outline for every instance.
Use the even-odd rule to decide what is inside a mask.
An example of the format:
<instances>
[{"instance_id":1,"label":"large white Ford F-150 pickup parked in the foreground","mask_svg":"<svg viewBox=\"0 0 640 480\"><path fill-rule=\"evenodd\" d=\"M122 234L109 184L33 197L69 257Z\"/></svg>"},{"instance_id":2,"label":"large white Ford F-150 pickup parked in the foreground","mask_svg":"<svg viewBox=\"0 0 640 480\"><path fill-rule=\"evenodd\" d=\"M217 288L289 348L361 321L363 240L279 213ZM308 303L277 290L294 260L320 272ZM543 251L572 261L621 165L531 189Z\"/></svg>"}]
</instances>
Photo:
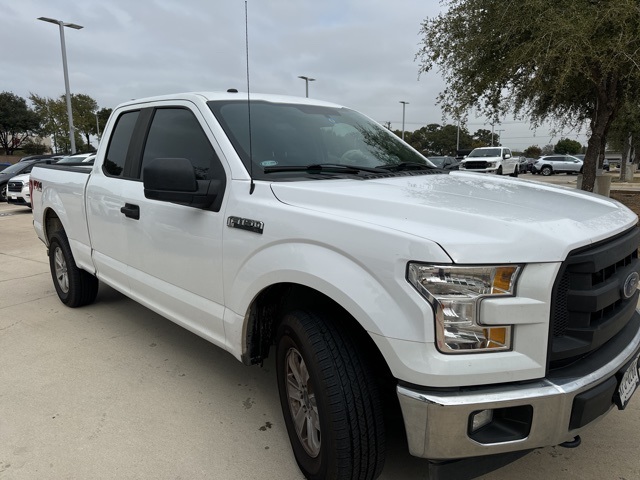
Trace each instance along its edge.
<instances>
[{"instance_id":1,"label":"large white Ford F-150 pickup parked in the foreground","mask_svg":"<svg viewBox=\"0 0 640 480\"><path fill-rule=\"evenodd\" d=\"M31 188L63 303L100 281L247 365L275 355L308 478L376 478L396 412L413 455L471 478L577 445L639 383L635 214L439 170L339 105L132 101L90 171L39 165Z\"/></svg>"}]
</instances>

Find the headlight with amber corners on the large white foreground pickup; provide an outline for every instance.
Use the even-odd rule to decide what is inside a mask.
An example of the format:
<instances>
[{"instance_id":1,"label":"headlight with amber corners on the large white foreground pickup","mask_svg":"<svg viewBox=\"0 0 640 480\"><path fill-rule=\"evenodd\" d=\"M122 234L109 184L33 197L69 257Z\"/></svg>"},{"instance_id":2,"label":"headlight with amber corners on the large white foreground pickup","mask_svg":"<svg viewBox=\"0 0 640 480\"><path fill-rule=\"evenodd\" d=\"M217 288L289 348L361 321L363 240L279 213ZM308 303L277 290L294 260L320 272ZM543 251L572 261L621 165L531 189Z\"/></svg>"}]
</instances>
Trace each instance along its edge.
<instances>
[{"instance_id":1,"label":"headlight with amber corners on the large white foreground pickup","mask_svg":"<svg viewBox=\"0 0 640 480\"><path fill-rule=\"evenodd\" d=\"M511 349L511 326L479 323L483 298L512 296L522 267L454 267L409 263L407 279L433 307L436 340L442 353Z\"/></svg>"}]
</instances>

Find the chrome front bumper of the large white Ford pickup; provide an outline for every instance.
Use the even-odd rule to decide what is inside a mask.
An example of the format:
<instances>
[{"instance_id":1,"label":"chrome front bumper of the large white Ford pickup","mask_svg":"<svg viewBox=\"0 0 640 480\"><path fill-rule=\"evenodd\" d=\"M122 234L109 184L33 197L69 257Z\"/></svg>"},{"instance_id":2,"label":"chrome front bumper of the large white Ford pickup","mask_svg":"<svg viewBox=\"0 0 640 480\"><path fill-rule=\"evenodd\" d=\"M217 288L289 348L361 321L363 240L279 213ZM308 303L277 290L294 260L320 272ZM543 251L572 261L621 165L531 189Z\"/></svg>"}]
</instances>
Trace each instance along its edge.
<instances>
[{"instance_id":1,"label":"chrome front bumper of the large white Ford pickup","mask_svg":"<svg viewBox=\"0 0 640 480\"><path fill-rule=\"evenodd\" d=\"M410 453L430 460L450 460L572 440L615 406L611 389L617 389L616 374L640 352L640 314L634 316L635 321L620 332L618 340L612 339L593 358L538 381L451 391L398 386ZM472 438L472 414L489 409L516 412L520 423L520 413L530 412L525 432L504 441Z\"/></svg>"}]
</instances>

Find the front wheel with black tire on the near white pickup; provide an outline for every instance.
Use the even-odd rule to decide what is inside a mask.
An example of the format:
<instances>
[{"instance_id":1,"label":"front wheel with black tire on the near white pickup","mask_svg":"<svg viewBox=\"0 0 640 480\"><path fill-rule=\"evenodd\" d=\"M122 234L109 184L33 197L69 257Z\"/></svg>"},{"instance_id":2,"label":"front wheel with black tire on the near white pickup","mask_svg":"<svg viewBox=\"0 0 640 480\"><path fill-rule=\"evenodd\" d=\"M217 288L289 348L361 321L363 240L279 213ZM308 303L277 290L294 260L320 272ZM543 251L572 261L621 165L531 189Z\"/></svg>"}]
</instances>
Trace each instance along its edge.
<instances>
[{"instance_id":1,"label":"front wheel with black tire on the near white pickup","mask_svg":"<svg viewBox=\"0 0 640 480\"><path fill-rule=\"evenodd\" d=\"M276 345L280 404L302 473L311 480L377 478L383 411L356 345L328 315L300 310L284 317Z\"/></svg>"}]
</instances>

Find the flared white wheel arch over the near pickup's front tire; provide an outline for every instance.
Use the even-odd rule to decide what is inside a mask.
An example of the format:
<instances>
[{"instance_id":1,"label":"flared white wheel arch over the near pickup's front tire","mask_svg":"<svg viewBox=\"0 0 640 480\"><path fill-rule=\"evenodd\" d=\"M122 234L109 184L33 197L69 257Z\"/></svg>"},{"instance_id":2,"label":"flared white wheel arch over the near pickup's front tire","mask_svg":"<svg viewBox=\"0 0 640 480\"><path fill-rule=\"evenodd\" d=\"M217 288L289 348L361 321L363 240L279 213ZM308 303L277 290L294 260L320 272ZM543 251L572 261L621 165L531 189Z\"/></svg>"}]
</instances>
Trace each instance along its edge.
<instances>
[{"instance_id":1,"label":"flared white wheel arch over the near pickup's front tire","mask_svg":"<svg viewBox=\"0 0 640 480\"><path fill-rule=\"evenodd\" d=\"M433 341L432 329L425 328L432 325L432 310L404 280L405 269L404 260L397 260L391 271L380 272L322 245L281 243L256 252L244 262L226 289L226 304L246 318L251 303L265 288L294 283L331 298L370 333Z\"/></svg>"}]
</instances>

